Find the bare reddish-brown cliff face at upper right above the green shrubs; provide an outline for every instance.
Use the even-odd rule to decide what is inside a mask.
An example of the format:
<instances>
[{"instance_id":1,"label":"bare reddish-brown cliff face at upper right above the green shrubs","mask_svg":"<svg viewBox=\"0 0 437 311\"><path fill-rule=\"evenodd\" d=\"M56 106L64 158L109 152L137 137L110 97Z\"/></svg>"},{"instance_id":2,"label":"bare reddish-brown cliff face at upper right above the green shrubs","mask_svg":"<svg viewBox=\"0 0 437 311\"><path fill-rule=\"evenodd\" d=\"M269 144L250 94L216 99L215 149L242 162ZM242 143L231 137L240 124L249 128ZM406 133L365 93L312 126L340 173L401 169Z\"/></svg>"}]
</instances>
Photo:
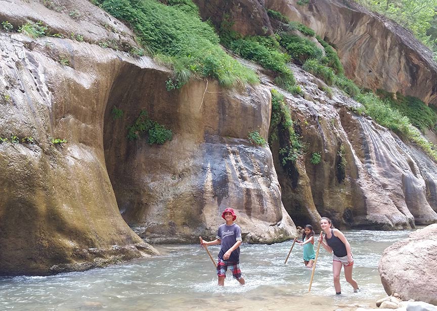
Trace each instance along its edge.
<instances>
[{"instance_id":1,"label":"bare reddish-brown cliff face at upper right above the green shrubs","mask_svg":"<svg viewBox=\"0 0 437 311\"><path fill-rule=\"evenodd\" d=\"M358 85L437 104L437 65L409 31L353 1L296 3L266 0L266 7L313 28L334 45L345 74Z\"/></svg>"}]
</instances>

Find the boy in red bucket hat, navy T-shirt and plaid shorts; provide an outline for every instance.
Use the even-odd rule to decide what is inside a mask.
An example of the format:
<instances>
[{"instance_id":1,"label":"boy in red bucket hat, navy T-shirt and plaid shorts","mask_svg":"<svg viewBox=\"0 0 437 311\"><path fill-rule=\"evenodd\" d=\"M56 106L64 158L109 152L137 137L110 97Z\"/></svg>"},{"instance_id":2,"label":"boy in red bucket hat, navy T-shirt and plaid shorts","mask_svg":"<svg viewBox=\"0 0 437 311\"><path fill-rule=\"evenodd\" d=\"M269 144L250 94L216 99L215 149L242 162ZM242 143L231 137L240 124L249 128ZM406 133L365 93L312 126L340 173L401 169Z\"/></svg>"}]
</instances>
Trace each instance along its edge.
<instances>
[{"instance_id":1,"label":"boy in red bucket hat, navy T-shirt and plaid shorts","mask_svg":"<svg viewBox=\"0 0 437 311\"><path fill-rule=\"evenodd\" d=\"M241 229L240 226L234 223L237 218L232 208L227 208L222 214L226 223L218 227L217 236L214 241L206 242L202 239L200 245L209 246L221 244L220 253L218 253L217 276L218 285L225 285L226 271L228 267L232 271L234 279L238 280L241 285L245 284L241 277L240 271L240 245L241 245Z\"/></svg>"}]
</instances>

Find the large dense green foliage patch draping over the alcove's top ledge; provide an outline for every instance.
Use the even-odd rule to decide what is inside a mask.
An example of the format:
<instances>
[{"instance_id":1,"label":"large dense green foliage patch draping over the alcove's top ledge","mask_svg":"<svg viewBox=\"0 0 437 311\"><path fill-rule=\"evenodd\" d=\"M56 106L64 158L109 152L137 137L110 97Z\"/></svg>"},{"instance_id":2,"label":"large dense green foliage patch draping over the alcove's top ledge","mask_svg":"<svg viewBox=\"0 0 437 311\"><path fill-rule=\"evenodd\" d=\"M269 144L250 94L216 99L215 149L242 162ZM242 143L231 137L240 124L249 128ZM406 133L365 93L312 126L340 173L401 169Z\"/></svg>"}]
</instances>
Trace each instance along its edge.
<instances>
[{"instance_id":1,"label":"large dense green foliage patch draping over the alcove's top ledge","mask_svg":"<svg viewBox=\"0 0 437 311\"><path fill-rule=\"evenodd\" d=\"M218 45L220 39L210 25L193 12L185 12L189 2L176 1L166 6L154 0L105 0L102 8L128 22L144 47L172 65L174 79L180 84L191 76L213 77L228 87L257 83L252 70Z\"/></svg>"}]
</instances>

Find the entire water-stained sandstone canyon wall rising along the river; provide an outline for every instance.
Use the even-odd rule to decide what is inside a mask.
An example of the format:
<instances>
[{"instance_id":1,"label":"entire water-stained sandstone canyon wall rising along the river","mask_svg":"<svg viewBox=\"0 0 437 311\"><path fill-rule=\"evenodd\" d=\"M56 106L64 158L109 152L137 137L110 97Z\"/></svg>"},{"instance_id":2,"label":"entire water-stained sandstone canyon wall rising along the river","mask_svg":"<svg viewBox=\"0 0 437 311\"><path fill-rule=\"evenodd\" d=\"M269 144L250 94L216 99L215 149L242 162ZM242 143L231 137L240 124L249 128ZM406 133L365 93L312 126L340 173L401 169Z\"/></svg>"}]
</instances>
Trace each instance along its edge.
<instances>
[{"instance_id":1,"label":"entire water-stained sandstone canyon wall rising along the river","mask_svg":"<svg viewBox=\"0 0 437 311\"><path fill-rule=\"evenodd\" d=\"M226 207L236 210L251 243L294 237L292 219L317 225L329 216L337 226L383 229L437 220L435 163L351 112L355 101L335 89L327 96L323 83L297 66L304 96L284 94L308 150L283 167L283 141L269 148L247 139L251 131L268 138L274 86L263 70L247 63L259 71L260 86L229 90L197 80L167 91L168 69L96 45L135 46L127 27L85 0L54 3L61 12L36 1L0 2L1 20L15 29L41 19L85 40L0 32L0 136L35 141L0 144L0 275L47 275L156 254L126 222L146 242L211 238ZM261 24L270 29L261 2L216 5L264 12L235 24L247 34L260 34ZM73 20L66 14L73 10L89 15ZM253 23L244 28L248 19ZM114 107L122 118L114 118ZM173 139L129 141L127 128L141 111ZM314 152L322 155L317 165Z\"/></svg>"}]
</instances>

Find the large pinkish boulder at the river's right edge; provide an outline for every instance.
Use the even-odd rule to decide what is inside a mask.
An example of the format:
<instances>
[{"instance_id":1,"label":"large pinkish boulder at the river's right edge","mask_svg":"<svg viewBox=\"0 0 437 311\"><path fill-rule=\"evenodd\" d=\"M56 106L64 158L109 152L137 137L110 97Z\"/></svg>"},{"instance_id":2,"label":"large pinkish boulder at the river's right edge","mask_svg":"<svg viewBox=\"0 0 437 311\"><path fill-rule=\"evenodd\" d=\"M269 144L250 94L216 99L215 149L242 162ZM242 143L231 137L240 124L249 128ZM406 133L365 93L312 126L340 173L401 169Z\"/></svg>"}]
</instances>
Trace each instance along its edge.
<instances>
[{"instance_id":1,"label":"large pinkish boulder at the river's right edge","mask_svg":"<svg viewBox=\"0 0 437 311\"><path fill-rule=\"evenodd\" d=\"M413 232L382 254L379 275L385 292L437 304L437 224Z\"/></svg>"}]
</instances>

